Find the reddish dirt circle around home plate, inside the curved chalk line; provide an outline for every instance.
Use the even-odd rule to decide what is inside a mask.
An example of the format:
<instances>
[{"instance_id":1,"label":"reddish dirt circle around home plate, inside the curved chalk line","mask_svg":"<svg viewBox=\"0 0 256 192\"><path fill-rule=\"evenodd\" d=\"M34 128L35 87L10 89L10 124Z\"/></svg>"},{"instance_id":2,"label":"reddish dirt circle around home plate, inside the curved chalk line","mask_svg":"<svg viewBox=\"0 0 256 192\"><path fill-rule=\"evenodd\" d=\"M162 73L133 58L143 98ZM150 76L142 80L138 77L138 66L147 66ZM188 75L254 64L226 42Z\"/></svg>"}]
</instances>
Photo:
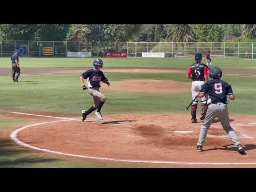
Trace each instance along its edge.
<instances>
[{"instance_id":1,"label":"reddish dirt circle around home plate, inside the curved chalk line","mask_svg":"<svg viewBox=\"0 0 256 192\"><path fill-rule=\"evenodd\" d=\"M216 166L256 163L253 116L230 117L231 126L245 146L244 156L236 151L217 119L208 132L202 153L195 149L202 122L190 123L188 113L104 115L103 121L90 115L86 121L37 125L19 132L18 138L43 149L121 161L216 163Z\"/></svg>"}]
</instances>

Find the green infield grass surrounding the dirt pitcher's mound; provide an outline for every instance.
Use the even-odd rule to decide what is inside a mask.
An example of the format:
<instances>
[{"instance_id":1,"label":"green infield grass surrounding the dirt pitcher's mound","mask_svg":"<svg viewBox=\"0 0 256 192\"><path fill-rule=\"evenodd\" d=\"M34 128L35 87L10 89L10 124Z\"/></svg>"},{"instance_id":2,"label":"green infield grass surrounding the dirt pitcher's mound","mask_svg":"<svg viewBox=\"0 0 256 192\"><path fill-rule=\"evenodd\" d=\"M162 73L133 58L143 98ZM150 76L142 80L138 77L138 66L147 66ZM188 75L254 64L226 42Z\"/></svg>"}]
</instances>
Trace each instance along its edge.
<instances>
[{"instance_id":1,"label":"green infield grass surrounding the dirt pitcher's mound","mask_svg":"<svg viewBox=\"0 0 256 192\"><path fill-rule=\"evenodd\" d=\"M147 74L147 73L106 73L111 81L123 79L170 79L190 82L183 73ZM256 77L225 75L236 96L230 102L231 113L256 114L254 95ZM22 76L19 83L13 83L10 77L0 77L1 98L4 107L19 107L39 111L80 114L82 108L93 104L87 90L82 90L79 74L52 74ZM127 87L129 89L129 87ZM191 92L180 94L127 93L103 90L107 103L103 113L140 113L185 111L191 100Z\"/></svg>"}]
</instances>

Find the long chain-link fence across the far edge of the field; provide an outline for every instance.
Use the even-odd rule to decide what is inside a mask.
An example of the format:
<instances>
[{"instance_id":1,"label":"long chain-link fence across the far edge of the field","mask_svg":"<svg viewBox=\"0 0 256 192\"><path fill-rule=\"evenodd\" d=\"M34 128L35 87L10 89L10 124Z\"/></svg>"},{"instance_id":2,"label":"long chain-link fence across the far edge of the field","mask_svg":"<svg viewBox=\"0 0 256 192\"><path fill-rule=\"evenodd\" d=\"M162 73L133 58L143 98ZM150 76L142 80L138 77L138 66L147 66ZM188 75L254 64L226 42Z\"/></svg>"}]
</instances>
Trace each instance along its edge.
<instances>
[{"instance_id":1,"label":"long chain-link fence across the far edge of the field","mask_svg":"<svg viewBox=\"0 0 256 192\"><path fill-rule=\"evenodd\" d=\"M50 54L44 54L44 49ZM11 57L14 50L21 57L67 57L70 52L91 52L103 57L104 52L127 52L129 58L141 58L142 52L164 52L165 58L194 58L208 51L214 59L256 59L256 43L228 42L68 42L68 41L0 41L1 57Z\"/></svg>"}]
</instances>

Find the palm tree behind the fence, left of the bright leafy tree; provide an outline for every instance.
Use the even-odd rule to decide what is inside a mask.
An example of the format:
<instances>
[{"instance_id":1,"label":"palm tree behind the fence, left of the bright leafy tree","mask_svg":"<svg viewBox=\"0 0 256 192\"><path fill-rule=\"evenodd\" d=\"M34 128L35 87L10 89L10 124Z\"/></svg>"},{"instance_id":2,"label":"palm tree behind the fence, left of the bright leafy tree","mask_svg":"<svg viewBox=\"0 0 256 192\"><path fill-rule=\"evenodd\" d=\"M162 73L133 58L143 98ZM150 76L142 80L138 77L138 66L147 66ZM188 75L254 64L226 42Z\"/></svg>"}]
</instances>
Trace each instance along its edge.
<instances>
[{"instance_id":1,"label":"palm tree behind the fence, left of the bright leafy tree","mask_svg":"<svg viewBox=\"0 0 256 192\"><path fill-rule=\"evenodd\" d=\"M189 42L194 38L193 27L188 24L174 25L172 37L175 42Z\"/></svg>"}]
</instances>

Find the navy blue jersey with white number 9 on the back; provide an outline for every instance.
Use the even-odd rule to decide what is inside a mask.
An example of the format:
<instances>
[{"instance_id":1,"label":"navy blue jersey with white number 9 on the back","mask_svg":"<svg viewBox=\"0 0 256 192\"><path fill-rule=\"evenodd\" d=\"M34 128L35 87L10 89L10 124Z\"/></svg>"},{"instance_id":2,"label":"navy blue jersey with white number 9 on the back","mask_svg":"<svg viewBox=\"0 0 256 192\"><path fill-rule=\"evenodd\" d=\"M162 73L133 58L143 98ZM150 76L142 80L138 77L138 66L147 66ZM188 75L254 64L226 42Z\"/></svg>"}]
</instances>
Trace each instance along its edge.
<instances>
[{"instance_id":1,"label":"navy blue jersey with white number 9 on the back","mask_svg":"<svg viewBox=\"0 0 256 192\"><path fill-rule=\"evenodd\" d=\"M232 87L221 79L206 82L199 93L208 94L211 102L227 102L227 95L233 94Z\"/></svg>"}]
</instances>

